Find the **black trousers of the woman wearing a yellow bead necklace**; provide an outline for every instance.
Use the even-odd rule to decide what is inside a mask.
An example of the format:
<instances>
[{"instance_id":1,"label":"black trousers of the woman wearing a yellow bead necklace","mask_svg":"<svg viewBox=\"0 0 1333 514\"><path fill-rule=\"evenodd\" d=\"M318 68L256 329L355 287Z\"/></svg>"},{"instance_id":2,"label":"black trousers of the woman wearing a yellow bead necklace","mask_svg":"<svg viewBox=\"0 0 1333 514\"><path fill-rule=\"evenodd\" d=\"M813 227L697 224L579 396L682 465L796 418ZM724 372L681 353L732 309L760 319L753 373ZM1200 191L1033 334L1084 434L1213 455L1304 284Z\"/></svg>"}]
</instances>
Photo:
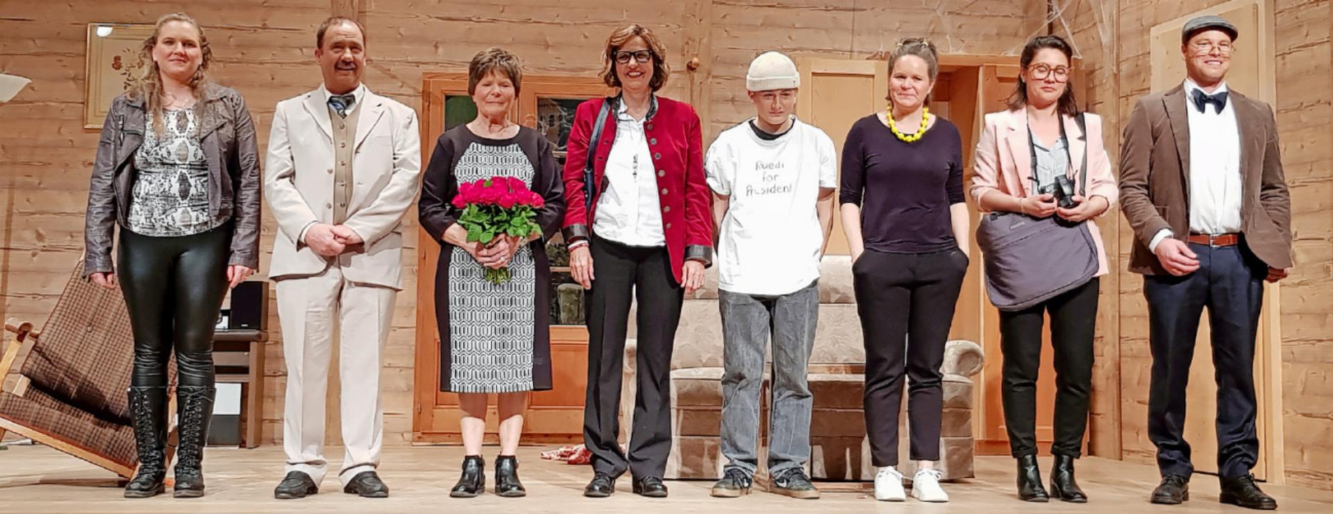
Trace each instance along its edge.
<instances>
[{"instance_id":1,"label":"black trousers of the woman wearing a yellow bead necklace","mask_svg":"<svg viewBox=\"0 0 1333 514\"><path fill-rule=\"evenodd\" d=\"M940 459L940 366L966 272L968 257L956 248L921 254L866 250L852 266L865 337L865 431L874 466L898 463L904 372L910 458Z\"/></svg>"}]
</instances>

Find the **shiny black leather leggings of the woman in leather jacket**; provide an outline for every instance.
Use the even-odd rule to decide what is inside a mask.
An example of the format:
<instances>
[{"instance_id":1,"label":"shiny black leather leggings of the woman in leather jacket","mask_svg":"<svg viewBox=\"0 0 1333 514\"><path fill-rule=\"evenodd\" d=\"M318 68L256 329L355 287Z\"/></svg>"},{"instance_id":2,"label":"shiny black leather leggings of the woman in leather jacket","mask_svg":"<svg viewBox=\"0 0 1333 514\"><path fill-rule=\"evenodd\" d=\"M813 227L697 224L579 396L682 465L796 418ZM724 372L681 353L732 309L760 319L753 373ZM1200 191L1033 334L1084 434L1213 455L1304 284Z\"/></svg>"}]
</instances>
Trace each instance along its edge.
<instances>
[{"instance_id":1,"label":"shiny black leather leggings of the woman in leather jacket","mask_svg":"<svg viewBox=\"0 0 1333 514\"><path fill-rule=\"evenodd\" d=\"M133 386L213 386L213 328L227 296L232 225L181 237L120 230L117 280L135 332Z\"/></svg>"}]
</instances>

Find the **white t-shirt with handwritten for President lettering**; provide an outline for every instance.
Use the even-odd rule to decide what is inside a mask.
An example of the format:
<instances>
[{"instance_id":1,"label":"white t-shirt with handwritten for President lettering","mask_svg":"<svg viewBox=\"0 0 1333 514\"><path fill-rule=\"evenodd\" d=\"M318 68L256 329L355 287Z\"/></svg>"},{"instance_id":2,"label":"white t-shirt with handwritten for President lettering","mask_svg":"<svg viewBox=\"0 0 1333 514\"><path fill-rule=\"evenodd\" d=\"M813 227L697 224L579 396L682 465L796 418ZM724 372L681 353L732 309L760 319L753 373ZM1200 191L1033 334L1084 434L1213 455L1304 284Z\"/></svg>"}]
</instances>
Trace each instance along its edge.
<instances>
[{"instance_id":1,"label":"white t-shirt with handwritten for President lettering","mask_svg":"<svg viewBox=\"0 0 1333 514\"><path fill-rule=\"evenodd\" d=\"M718 288L789 294L820 277L820 188L837 188L837 154L824 130L792 119L776 140L750 121L717 136L704 160L708 185L730 204L717 242Z\"/></svg>"}]
</instances>

